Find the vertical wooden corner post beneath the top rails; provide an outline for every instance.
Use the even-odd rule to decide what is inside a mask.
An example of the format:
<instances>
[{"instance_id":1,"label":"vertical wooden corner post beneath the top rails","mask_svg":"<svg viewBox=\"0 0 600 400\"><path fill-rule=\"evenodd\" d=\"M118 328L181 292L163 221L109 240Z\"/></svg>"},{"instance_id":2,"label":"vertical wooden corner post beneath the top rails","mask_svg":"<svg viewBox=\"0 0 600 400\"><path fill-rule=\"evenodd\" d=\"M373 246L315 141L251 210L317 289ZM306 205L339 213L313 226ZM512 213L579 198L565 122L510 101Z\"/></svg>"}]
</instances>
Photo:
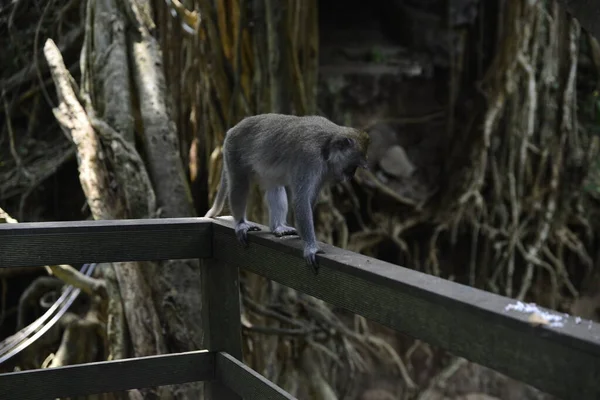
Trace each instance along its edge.
<instances>
[{"instance_id":1,"label":"vertical wooden corner post beneath the top rails","mask_svg":"<svg viewBox=\"0 0 600 400\"><path fill-rule=\"evenodd\" d=\"M201 262L206 348L227 352L243 361L238 268L214 259ZM205 383L205 396L206 400L241 400L218 380Z\"/></svg>"}]
</instances>

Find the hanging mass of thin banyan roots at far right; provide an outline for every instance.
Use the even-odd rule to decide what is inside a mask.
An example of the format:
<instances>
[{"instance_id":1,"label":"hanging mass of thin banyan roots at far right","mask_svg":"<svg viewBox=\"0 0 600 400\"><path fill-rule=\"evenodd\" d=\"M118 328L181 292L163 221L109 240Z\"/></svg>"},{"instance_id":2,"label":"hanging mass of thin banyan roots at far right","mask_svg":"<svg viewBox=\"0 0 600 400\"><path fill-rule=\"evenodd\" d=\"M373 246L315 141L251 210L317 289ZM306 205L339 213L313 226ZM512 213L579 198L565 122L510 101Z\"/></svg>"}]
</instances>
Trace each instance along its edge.
<instances>
[{"instance_id":1,"label":"hanging mass of thin banyan roots at far right","mask_svg":"<svg viewBox=\"0 0 600 400\"><path fill-rule=\"evenodd\" d=\"M581 185L575 188L585 178L582 146L590 143L573 112L580 28L556 3L549 11L541 2L506 7L509 30L484 81L490 107L479 175L463 199L480 191L488 171L494 190L485 210L478 207L477 214L467 212L464 218L479 227L482 242L495 243L496 268L488 278L489 288L524 299L534 277L545 275L551 284L550 306L555 307L563 288L577 296L561 255L564 250L589 265L581 239L569 235L570 243L561 234L572 232L569 221L580 212L570 204L576 204L575 196L581 193ZM508 22L514 20L521 23ZM583 173L567 178L573 163ZM516 266L523 261L521 275Z\"/></svg>"}]
</instances>

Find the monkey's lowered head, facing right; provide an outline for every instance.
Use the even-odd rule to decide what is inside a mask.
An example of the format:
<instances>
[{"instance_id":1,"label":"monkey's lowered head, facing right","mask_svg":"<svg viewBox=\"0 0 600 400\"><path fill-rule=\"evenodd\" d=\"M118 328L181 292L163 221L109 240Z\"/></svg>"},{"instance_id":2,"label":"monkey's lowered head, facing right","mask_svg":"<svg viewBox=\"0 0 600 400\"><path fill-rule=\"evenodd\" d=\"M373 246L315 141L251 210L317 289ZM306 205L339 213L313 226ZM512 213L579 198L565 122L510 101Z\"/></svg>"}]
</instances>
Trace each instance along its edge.
<instances>
[{"instance_id":1,"label":"monkey's lowered head, facing right","mask_svg":"<svg viewBox=\"0 0 600 400\"><path fill-rule=\"evenodd\" d=\"M348 181L354 177L357 168L368 168L367 150L370 143L368 133L351 129L326 144L324 155L334 180Z\"/></svg>"}]
</instances>

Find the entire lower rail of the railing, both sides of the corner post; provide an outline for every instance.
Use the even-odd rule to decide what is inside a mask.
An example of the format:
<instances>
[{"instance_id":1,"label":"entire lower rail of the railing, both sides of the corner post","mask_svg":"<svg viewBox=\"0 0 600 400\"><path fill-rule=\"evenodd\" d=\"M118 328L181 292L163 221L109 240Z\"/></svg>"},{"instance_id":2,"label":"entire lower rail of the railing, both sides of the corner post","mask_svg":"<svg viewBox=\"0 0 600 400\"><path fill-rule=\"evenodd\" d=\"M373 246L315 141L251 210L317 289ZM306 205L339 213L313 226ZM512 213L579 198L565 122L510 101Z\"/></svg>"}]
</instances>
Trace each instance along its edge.
<instances>
[{"instance_id":1,"label":"entire lower rail of the railing, both sides of the corner post","mask_svg":"<svg viewBox=\"0 0 600 400\"><path fill-rule=\"evenodd\" d=\"M245 399L294 399L230 354L206 350L0 374L0 399L46 400L215 380Z\"/></svg>"}]
</instances>

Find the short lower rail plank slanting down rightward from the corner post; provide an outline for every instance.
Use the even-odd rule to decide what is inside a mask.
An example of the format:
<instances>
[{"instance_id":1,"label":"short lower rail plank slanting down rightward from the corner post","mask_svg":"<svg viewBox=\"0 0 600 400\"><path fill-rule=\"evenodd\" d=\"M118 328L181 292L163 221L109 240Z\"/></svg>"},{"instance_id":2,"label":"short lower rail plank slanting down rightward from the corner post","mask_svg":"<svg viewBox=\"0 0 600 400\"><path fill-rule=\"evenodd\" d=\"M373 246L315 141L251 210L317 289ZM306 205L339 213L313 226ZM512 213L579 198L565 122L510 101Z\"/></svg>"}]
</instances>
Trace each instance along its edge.
<instances>
[{"instance_id":1,"label":"short lower rail plank slanting down rightward from the corner post","mask_svg":"<svg viewBox=\"0 0 600 400\"><path fill-rule=\"evenodd\" d=\"M227 353L217 354L215 375L244 400L296 399L264 376Z\"/></svg>"}]
</instances>

